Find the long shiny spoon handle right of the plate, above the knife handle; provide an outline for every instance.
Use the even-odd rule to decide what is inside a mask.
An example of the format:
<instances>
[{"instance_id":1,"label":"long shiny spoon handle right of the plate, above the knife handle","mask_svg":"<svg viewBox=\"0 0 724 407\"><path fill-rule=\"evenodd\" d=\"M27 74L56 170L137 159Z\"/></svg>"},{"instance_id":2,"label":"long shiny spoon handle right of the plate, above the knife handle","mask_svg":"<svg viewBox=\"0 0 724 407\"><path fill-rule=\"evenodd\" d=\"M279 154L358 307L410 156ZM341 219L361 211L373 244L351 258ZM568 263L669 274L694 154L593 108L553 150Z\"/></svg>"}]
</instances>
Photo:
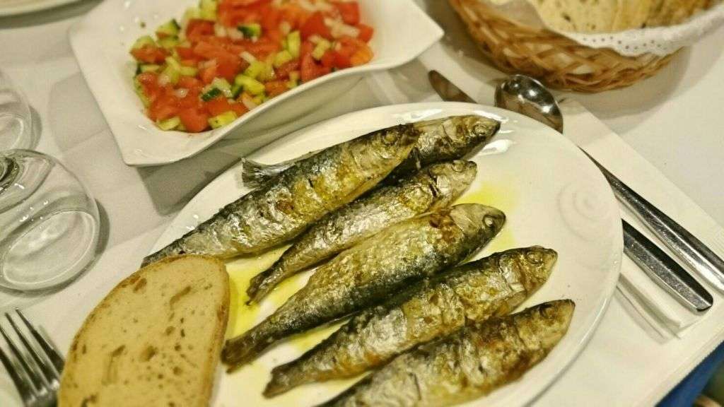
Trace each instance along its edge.
<instances>
[{"instance_id":1,"label":"long shiny spoon handle right of the plate, above the knife handle","mask_svg":"<svg viewBox=\"0 0 724 407\"><path fill-rule=\"evenodd\" d=\"M585 151L584 151L585 152ZM588 155L586 153L586 155ZM724 260L720 259L701 240L684 229L674 219L668 217L656 206L628 188L615 175L611 174L598 161L590 159L601 169L613 192L628 209L636 214L641 222L651 230L662 243L670 248L679 259L709 281L717 290L724 291Z\"/></svg>"}]
</instances>

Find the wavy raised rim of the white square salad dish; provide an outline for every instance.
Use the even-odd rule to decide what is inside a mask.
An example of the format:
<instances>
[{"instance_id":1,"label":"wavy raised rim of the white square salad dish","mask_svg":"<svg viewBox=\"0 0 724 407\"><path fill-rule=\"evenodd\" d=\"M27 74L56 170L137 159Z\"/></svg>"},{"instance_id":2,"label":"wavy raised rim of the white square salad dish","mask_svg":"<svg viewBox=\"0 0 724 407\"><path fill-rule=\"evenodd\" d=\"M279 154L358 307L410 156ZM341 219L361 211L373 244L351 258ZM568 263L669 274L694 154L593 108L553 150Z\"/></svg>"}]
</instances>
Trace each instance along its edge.
<instances>
[{"instance_id":1,"label":"wavy raised rim of the white square salad dish","mask_svg":"<svg viewBox=\"0 0 724 407\"><path fill-rule=\"evenodd\" d=\"M90 12L88 12L88 14L86 14L83 18L75 22L69 28L67 35L70 41L73 55L75 56L78 67L80 68L80 72L83 74L85 82L88 84L88 88L90 89L90 93L93 94L93 98L96 99L96 103L101 109L101 113L103 113L104 119L106 119L106 123L111 129L111 134L113 135L114 142L116 143L121 153L122 160L125 164L131 167L148 167L155 165L172 164L183 159L188 159L191 156L195 156L196 154L199 154L207 148L213 146L214 143L219 142L219 140L225 138L232 131L240 130L240 128L243 128L246 123L252 121L259 115L264 114L264 112L271 111L272 109L274 109L274 107L282 104L285 101L288 101L290 98L302 96L304 93L306 93L306 91L310 91L313 88L318 88L319 86L327 83L332 83L334 81L339 81L341 83L344 78L350 80L350 77L358 76L361 79L364 75L370 74L372 72L380 72L390 70L395 67L400 67L403 64L406 64L408 62L411 62L413 59L416 59L420 54L424 53L424 51L429 49L429 47L431 47L434 43L440 41L440 39L442 39L442 37L445 35L445 31L440 28L437 22L432 20L432 18L429 17L429 15L426 14L422 9L420 9L420 7L418 7L418 5L413 0L403 0L406 3L405 7L408 7L411 14L414 14L411 18L424 22L425 25L422 28L424 28L426 36L422 38L421 43L416 46L413 51L407 52L405 54L400 54L400 56L397 56L396 58L388 58L387 61L375 62L373 60L369 64L361 65L359 67L352 67L346 70L332 72L332 74L317 78L316 80L313 80L309 83L300 85L298 88L295 88L290 92L277 96L277 98L271 99L266 104L262 104L257 109L253 109L252 112L245 114L242 118L240 118L232 125L227 125L217 130L207 130L206 132L198 133L199 137L203 137L204 140L201 143L198 143L197 146L193 146L193 148L184 148L178 153L169 153L167 156L149 156L148 153L137 154L137 151L142 151L143 146L128 143L127 140L124 138L124 134L128 131L132 131L132 127L148 125L149 123L139 122L136 123L135 126L128 126L125 122L114 119L115 114L110 109L111 103L109 103L109 95L107 94L108 91L104 91L103 85L106 82L108 76L102 76L96 73L96 71L98 70L98 64L101 64L101 62L99 62L100 58L91 56L88 51L83 51L84 47L88 48L90 45L98 42L98 40L87 38L87 35L85 35L83 31L88 29L98 29L96 28L96 23L94 20L96 18L96 14L104 14L106 12L106 9L113 7L114 4L118 4L121 1L122 0L106 0L101 4L98 4L97 7L90 10ZM93 76L91 76L91 74L93 74ZM179 137L188 137L188 134L190 133L180 132ZM152 137L154 135L157 134L153 133L149 136ZM179 140L179 142L181 143L182 140Z\"/></svg>"}]
</instances>

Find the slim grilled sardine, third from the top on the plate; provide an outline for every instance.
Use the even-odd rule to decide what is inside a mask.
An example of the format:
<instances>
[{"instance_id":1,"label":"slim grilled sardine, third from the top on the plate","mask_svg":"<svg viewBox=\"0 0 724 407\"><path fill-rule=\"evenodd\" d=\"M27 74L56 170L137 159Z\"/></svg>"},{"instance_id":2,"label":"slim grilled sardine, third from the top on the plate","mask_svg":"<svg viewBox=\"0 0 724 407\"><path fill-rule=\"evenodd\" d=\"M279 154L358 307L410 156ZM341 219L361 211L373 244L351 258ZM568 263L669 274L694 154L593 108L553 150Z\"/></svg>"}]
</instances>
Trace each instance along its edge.
<instances>
[{"instance_id":1,"label":"slim grilled sardine, third from the top on the plate","mask_svg":"<svg viewBox=\"0 0 724 407\"><path fill-rule=\"evenodd\" d=\"M327 214L303 233L269 269L251 280L250 301L279 282L369 238L385 227L452 204L476 175L473 161L434 164L400 182L373 190Z\"/></svg>"}]
</instances>

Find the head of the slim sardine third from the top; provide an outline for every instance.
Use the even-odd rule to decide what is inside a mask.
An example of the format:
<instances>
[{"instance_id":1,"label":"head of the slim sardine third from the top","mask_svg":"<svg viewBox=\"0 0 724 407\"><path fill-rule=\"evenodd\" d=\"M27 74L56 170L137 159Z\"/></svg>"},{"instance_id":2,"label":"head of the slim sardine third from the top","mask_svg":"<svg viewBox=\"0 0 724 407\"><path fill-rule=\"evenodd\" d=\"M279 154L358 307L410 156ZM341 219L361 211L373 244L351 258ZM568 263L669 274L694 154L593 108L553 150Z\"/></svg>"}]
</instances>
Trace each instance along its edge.
<instances>
[{"instance_id":1,"label":"head of the slim sardine third from the top","mask_svg":"<svg viewBox=\"0 0 724 407\"><path fill-rule=\"evenodd\" d=\"M433 182L437 195L450 205L452 201L470 186L478 173L478 166L473 161L446 161L433 164L427 168L427 175Z\"/></svg>"}]
</instances>

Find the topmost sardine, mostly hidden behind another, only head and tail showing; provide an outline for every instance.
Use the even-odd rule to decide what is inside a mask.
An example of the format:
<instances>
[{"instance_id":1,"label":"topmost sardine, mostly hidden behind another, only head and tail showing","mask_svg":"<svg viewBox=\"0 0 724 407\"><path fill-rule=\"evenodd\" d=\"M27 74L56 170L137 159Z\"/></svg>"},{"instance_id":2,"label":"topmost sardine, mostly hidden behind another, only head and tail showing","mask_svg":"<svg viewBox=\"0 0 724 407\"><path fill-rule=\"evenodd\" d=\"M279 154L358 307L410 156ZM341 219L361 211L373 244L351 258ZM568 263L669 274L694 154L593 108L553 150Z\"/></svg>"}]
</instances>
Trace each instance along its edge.
<instances>
[{"instance_id":1,"label":"topmost sardine, mostly hidden behind another, only head and tail showing","mask_svg":"<svg viewBox=\"0 0 724 407\"><path fill-rule=\"evenodd\" d=\"M477 146L487 143L500 130L500 122L474 114L426 120L413 125L421 131L420 138L409 158L395 171L395 177L439 161L462 159ZM261 164L245 159L242 180L251 188L264 185L279 172L314 154L316 151L278 164Z\"/></svg>"}]
</instances>

